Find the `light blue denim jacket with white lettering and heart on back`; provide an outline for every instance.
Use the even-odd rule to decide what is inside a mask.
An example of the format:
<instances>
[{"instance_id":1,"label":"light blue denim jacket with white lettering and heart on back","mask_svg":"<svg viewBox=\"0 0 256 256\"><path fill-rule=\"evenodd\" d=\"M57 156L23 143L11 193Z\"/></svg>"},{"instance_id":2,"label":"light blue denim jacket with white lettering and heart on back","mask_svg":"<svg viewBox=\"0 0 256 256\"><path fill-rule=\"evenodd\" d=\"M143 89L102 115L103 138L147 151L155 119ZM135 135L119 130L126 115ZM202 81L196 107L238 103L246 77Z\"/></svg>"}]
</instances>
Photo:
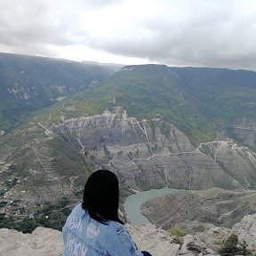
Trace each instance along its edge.
<instances>
[{"instance_id":1,"label":"light blue denim jacket with white lettering and heart on back","mask_svg":"<svg viewBox=\"0 0 256 256\"><path fill-rule=\"evenodd\" d=\"M77 204L62 228L65 256L142 256L124 225L108 225L90 218L82 204Z\"/></svg>"}]
</instances>

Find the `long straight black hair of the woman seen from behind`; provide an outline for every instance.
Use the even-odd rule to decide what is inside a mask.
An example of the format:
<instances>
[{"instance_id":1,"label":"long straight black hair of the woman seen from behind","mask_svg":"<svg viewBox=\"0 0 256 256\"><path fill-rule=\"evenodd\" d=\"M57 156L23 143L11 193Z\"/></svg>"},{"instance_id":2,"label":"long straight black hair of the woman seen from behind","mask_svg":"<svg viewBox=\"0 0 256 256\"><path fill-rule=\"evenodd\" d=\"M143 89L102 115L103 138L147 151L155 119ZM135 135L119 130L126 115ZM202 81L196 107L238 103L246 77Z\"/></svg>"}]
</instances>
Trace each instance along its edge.
<instances>
[{"instance_id":1,"label":"long straight black hair of the woman seen from behind","mask_svg":"<svg viewBox=\"0 0 256 256\"><path fill-rule=\"evenodd\" d=\"M84 186L82 207L90 217L102 224L118 218L119 187L116 174L108 170L92 172Z\"/></svg>"}]
</instances>

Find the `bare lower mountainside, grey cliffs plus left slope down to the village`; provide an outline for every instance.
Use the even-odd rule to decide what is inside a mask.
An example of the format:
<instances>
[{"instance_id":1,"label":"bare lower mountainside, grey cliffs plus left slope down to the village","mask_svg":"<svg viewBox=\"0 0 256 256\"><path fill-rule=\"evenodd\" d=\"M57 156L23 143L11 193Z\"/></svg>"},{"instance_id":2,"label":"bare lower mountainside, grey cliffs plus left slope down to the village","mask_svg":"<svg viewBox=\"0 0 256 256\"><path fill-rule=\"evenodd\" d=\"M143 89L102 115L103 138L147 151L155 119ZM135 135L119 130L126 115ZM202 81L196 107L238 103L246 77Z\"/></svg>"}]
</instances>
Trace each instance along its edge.
<instances>
[{"instance_id":1,"label":"bare lower mountainside, grey cliffs plus left slope down to the village","mask_svg":"<svg viewBox=\"0 0 256 256\"><path fill-rule=\"evenodd\" d=\"M74 204L88 175L99 168L116 172L122 199L130 188L255 188L256 155L251 149L228 139L196 145L160 115L138 120L116 108L63 118L59 125L51 118L31 122L0 141L5 204L0 213L5 217L36 216L41 204L56 205L65 198Z\"/></svg>"}]
</instances>

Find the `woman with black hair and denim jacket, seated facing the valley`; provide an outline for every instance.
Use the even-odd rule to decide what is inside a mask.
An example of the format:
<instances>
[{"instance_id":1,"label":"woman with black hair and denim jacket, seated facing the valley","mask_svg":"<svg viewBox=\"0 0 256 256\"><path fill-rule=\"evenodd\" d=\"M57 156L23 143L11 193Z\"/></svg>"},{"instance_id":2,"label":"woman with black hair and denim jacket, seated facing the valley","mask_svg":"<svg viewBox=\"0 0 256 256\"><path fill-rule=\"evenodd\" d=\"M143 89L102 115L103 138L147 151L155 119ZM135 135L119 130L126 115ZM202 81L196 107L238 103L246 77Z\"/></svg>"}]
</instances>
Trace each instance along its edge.
<instances>
[{"instance_id":1,"label":"woman with black hair and denim jacket, seated facing the valley","mask_svg":"<svg viewBox=\"0 0 256 256\"><path fill-rule=\"evenodd\" d=\"M83 203L77 204L63 227L65 256L150 256L140 252L118 218L119 188L113 172L93 172L84 187Z\"/></svg>"}]
</instances>

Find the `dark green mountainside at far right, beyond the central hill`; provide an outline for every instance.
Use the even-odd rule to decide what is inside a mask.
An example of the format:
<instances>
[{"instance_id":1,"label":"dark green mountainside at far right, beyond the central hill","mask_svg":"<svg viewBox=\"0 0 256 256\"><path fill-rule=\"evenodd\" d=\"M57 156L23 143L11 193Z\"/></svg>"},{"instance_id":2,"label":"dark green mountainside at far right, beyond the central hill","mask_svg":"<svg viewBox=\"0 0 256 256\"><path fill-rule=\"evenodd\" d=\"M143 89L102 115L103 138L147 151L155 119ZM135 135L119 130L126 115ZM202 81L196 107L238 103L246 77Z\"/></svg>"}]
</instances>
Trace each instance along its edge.
<instances>
[{"instance_id":1,"label":"dark green mountainside at far right, beyond the central hill","mask_svg":"<svg viewBox=\"0 0 256 256\"><path fill-rule=\"evenodd\" d=\"M256 73L223 68L172 68L209 120L255 117Z\"/></svg>"}]
</instances>

